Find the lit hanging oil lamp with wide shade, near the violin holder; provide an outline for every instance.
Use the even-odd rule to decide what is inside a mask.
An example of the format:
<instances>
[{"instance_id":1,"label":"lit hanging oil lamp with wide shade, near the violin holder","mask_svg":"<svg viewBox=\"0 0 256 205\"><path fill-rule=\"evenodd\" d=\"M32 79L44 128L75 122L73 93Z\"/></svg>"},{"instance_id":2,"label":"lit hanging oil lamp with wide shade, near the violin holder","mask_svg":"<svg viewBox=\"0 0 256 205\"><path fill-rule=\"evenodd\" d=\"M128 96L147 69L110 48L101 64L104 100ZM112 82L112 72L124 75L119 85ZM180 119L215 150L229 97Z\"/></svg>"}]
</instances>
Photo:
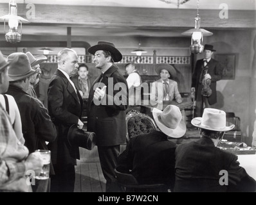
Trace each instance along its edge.
<instances>
[{"instance_id":1,"label":"lit hanging oil lamp with wide shade, near the violin holder","mask_svg":"<svg viewBox=\"0 0 256 205\"><path fill-rule=\"evenodd\" d=\"M206 31L201 27L201 18L199 16L199 0L197 0L197 15L195 18L195 28L189 29L183 33L182 35L191 36L191 45L190 45L190 51L191 53L202 53L204 46L203 46L203 37L207 37L210 35L213 35L212 32Z\"/></svg>"}]
</instances>

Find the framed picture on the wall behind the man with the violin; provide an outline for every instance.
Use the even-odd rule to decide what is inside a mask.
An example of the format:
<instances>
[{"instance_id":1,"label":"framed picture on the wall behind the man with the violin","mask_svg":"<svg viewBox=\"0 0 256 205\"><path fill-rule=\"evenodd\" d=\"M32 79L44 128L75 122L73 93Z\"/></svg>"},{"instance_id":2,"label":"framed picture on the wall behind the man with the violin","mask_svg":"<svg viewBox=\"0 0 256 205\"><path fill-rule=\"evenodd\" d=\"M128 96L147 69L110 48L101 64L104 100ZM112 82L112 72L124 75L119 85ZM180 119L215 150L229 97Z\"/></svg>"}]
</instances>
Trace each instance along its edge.
<instances>
[{"instance_id":1,"label":"framed picture on the wall behind the man with the violin","mask_svg":"<svg viewBox=\"0 0 256 205\"><path fill-rule=\"evenodd\" d=\"M222 79L235 79L235 54L214 54L214 59L223 66Z\"/></svg>"}]
</instances>

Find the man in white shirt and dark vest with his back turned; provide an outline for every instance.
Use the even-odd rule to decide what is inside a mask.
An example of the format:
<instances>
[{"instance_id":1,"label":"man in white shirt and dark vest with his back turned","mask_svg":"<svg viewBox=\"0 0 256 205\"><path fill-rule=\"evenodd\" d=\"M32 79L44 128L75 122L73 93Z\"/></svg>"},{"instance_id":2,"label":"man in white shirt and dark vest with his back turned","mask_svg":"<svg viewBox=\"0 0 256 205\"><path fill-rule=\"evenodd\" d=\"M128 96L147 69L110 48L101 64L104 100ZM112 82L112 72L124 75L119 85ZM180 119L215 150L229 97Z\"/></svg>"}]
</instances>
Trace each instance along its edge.
<instances>
[{"instance_id":1,"label":"man in white shirt and dark vest with his back turned","mask_svg":"<svg viewBox=\"0 0 256 205\"><path fill-rule=\"evenodd\" d=\"M129 106L140 105L140 85L142 84L142 78L140 77L138 71L135 69L134 63L127 63L125 65L125 70L129 75L126 79L129 89Z\"/></svg>"}]
</instances>

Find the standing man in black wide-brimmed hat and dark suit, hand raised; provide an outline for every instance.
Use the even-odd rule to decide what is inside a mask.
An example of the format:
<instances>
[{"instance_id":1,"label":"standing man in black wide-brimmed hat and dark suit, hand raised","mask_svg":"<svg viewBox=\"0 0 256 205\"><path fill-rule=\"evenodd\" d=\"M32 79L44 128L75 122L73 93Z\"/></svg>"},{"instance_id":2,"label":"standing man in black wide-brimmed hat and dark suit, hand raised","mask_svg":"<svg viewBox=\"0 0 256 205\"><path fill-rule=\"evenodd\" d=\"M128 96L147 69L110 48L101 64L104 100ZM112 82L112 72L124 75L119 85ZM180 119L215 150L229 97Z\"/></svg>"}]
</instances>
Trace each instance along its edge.
<instances>
[{"instance_id":1,"label":"standing man in black wide-brimmed hat and dark suit, hand raised","mask_svg":"<svg viewBox=\"0 0 256 205\"><path fill-rule=\"evenodd\" d=\"M114 168L125 143L125 110L128 106L128 86L114 62L122 60L122 54L113 43L100 41L89 47L101 75L91 86L88 99L87 131L96 133L96 145L102 172L107 181L106 192L119 192Z\"/></svg>"}]
</instances>

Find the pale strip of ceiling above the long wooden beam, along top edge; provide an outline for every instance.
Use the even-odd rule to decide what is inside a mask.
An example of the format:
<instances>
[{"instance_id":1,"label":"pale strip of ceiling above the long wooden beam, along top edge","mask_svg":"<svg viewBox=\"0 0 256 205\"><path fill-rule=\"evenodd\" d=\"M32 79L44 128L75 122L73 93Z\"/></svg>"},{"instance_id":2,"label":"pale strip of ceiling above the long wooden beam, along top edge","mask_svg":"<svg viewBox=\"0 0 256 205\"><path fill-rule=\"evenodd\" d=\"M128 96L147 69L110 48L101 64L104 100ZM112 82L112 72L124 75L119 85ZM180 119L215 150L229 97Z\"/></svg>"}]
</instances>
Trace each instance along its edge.
<instances>
[{"instance_id":1,"label":"pale strip of ceiling above the long wooden beam, along top edge","mask_svg":"<svg viewBox=\"0 0 256 205\"><path fill-rule=\"evenodd\" d=\"M184 0L15 0L16 3L33 4L62 4L62 5L87 5L87 6L121 6L141 8L178 8L178 1ZM9 0L1 0L9 3ZM226 3L230 10L256 10L255 0L201 0L199 9L219 9L219 5ZM197 0L185 0L180 4L181 9L196 9Z\"/></svg>"}]
</instances>

